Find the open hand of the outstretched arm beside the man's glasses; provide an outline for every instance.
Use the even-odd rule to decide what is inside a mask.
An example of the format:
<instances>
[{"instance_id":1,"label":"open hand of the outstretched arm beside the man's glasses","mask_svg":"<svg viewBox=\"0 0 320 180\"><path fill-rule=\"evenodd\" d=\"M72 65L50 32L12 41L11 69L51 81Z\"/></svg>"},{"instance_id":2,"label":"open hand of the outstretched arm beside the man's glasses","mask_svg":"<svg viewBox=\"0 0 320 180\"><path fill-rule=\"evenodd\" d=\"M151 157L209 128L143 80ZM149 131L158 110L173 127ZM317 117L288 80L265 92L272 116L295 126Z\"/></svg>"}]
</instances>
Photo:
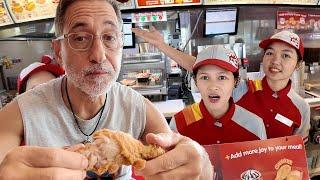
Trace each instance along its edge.
<instances>
[{"instance_id":1,"label":"open hand of the outstretched arm beside the man's glasses","mask_svg":"<svg viewBox=\"0 0 320 180\"><path fill-rule=\"evenodd\" d=\"M157 31L156 28L154 28L153 26L151 26L149 30L132 28L132 32L134 32L137 36L156 47L158 47L160 44L164 44L162 34L159 31Z\"/></svg>"}]
</instances>

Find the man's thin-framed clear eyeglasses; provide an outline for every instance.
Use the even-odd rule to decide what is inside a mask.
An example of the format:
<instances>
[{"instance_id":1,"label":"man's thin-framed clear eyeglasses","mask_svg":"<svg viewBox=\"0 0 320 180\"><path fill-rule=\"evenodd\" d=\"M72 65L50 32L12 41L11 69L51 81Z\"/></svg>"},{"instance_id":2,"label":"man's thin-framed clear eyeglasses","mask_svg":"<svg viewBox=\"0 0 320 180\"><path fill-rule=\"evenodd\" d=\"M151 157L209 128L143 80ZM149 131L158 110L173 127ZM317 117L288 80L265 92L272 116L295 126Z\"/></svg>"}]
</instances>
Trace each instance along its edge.
<instances>
[{"instance_id":1,"label":"man's thin-framed clear eyeglasses","mask_svg":"<svg viewBox=\"0 0 320 180\"><path fill-rule=\"evenodd\" d=\"M123 45L122 34L115 32L107 32L100 35L94 35L87 32L68 33L56 38L56 40L67 39L69 46L76 51L87 51L91 48L94 37L104 44L105 48L110 50L118 50Z\"/></svg>"}]
</instances>

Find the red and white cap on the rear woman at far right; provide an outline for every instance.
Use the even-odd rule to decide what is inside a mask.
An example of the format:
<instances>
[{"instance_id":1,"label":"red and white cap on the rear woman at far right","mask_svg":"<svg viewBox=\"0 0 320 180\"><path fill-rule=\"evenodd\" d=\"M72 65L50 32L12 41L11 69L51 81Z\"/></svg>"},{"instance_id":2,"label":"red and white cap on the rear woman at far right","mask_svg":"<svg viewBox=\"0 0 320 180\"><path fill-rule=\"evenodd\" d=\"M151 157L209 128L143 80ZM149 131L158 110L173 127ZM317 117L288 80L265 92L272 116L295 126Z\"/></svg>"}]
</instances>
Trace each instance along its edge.
<instances>
[{"instance_id":1,"label":"red and white cap on the rear woman at far right","mask_svg":"<svg viewBox=\"0 0 320 180\"><path fill-rule=\"evenodd\" d=\"M281 31L272 35L269 39L265 39L260 42L259 47L266 49L273 42L284 42L289 46L295 48L298 52L298 55L303 59L304 47L301 41L301 38L290 31Z\"/></svg>"}]
</instances>

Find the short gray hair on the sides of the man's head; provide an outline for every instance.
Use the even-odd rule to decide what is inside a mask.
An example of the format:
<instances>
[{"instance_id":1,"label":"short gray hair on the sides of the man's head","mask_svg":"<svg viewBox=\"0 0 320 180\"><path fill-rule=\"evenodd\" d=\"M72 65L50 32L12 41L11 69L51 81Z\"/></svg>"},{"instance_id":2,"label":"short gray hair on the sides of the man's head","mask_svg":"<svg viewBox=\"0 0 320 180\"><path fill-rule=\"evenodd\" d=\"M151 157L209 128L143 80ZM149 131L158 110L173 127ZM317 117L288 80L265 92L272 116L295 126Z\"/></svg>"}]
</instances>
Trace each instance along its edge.
<instances>
[{"instance_id":1,"label":"short gray hair on the sides of the man's head","mask_svg":"<svg viewBox=\"0 0 320 180\"><path fill-rule=\"evenodd\" d=\"M64 18L65 18L65 14L67 12L67 9L71 4L75 3L76 1L79 1L79 0L60 0L58 7L57 7L57 10L56 10L56 18L54 21L56 37L62 35L63 27L64 27L64 20L65 20ZM82 0L82 1L85 1L85 0ZM86 1L92 2L92 0L86 0ZM112 8L114 9L114 11L116 12L117 19L119 22L119 28L121 29L123 22L122 22L121 12L120 12L120 8L117 4L117 1L116 0L104 0L104 1L109 3L112 6Z\"/></svg>"}]
</instances>

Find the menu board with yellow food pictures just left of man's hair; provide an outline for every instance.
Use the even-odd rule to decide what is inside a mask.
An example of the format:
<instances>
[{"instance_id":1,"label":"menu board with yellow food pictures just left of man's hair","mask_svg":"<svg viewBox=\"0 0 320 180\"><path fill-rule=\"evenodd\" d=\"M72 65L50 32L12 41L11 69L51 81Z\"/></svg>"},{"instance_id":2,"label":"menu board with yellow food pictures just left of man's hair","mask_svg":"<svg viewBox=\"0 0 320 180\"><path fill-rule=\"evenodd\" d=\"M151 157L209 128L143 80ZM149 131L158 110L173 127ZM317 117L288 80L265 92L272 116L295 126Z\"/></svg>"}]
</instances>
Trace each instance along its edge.
<instances>
[{"instance_id":1,"label":"menu board with yellow food pictures just left of man's hair","mask_svg":"<svg viewBox=\"0 0 320 180\"><path fill-rule=\"evenodd\" d=\"M59 0L6 0L14 22L55 17Z\"/></svg>"}]
</instances>

